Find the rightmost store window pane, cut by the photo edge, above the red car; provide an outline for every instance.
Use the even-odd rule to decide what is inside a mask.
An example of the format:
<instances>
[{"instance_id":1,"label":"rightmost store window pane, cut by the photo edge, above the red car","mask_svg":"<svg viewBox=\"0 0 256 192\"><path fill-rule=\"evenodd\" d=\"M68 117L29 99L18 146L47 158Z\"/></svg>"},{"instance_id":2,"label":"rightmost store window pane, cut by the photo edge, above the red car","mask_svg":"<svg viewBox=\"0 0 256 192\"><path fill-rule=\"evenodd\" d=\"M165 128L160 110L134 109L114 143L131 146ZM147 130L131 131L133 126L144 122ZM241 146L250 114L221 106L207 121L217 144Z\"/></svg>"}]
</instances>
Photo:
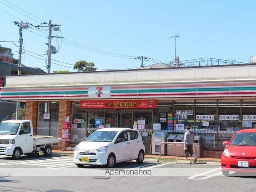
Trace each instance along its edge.
<instances>
[{"instance_id":1,"label":"rightmost store window pane, cut by the photo edge, above the red car","mask_svg":"<svg viewBox=\"0 0 256 192\"><path fill-rule=\"evenodd\" d=\"M256 100L242 100L242 128L256 128Z\"/></svg>"}]
</instances>

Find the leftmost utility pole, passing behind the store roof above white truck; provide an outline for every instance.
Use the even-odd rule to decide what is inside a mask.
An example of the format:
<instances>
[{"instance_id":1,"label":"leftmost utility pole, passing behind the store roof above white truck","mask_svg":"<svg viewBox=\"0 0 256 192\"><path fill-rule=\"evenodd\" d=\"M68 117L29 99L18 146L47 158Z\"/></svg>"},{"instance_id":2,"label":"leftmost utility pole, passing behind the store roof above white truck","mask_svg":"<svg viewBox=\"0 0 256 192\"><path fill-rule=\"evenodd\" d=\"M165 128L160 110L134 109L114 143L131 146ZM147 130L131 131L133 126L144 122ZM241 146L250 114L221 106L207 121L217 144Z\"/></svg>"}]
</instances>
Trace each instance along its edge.
<instances>
[{"instance_id":1,"label":"leftmost utility pole, passing behind the store roof above white truck","mask_svg":"<svg viewBox=\"0 0 256 192\"><path fill-rule=\"evenodd\" d=\"M19 63L18 63L18 75L20 75L21 74L21 54L22 54L22 44L23 44L22 28L27 29L29 28L29 26L27 23L23 23L22 21L20 23L18 21L14 21L13 23L19 27L19 34L20 34ZM17 105L16 105L16 119L20 119L20 102L19 101L17 101Z\"/></svg>"}]
</instances>

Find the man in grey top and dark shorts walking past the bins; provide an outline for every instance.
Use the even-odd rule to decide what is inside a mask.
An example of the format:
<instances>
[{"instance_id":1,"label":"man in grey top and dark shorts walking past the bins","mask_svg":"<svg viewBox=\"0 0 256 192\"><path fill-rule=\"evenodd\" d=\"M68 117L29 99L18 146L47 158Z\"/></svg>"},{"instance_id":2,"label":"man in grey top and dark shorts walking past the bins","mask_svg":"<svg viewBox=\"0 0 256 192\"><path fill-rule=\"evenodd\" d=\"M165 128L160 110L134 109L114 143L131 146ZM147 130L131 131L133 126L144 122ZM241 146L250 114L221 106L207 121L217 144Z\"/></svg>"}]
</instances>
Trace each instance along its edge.
<instances>
[{"instance_id":1,"label":"man in grey top and dark shorts walking past the bins","mask_svg":"<svg viewBox=\"0 0 256 192\"><path fill-rule=\"evenodd\" d=\"M188 160L188 153L190 156L194 157L194 163L197 161L197 158L195 154L193 153L193 142L194 142L194 134L193 132L190 131L190 126L186 126L186 132L185 132L185 137L184 137L184 146L186 146L185 150L185 156L186 159Z\"/></svg>"}]
</instances>

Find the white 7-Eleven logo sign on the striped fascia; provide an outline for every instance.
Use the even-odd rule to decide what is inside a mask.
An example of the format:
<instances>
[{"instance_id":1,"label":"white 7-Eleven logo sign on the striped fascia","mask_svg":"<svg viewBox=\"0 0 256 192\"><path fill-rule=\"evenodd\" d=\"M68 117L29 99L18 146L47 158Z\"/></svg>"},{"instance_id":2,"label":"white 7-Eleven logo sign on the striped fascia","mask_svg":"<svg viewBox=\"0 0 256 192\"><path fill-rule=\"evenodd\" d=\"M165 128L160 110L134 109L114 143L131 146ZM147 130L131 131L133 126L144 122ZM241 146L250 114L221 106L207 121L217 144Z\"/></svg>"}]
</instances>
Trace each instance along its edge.
<instances>
[{"instance_id":1,"label":"white 7-Eleven logo sign on the striped fascia","mask_svg":"<svg viewBox=\"0 0 256 192\"><path fill-rule=\"evenodd\" d=\"M110 86L90 86L88 89L89 98L110 98Z\"/></svg>"}]
</instances>

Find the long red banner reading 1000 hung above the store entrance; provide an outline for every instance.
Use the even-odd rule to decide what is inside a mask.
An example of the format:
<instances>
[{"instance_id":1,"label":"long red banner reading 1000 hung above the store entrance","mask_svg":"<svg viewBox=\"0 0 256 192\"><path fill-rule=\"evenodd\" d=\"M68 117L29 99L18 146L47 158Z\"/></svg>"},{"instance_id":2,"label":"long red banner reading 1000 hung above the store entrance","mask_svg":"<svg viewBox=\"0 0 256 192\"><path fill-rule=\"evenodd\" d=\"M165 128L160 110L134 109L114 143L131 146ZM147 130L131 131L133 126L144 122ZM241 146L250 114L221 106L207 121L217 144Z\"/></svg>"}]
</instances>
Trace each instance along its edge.
<instances>
[{"instance_id":1,"label":"long red banner reading 1000 hung above the store entrance","mask_svg":"<svg viewBox=\"0 0 256 192\"><path fill-rule=\"evenodd\" d=\"M156 100L83 100L80 108L87 109L129 109L156 108Z\"/></svg>"}]
</instances>

